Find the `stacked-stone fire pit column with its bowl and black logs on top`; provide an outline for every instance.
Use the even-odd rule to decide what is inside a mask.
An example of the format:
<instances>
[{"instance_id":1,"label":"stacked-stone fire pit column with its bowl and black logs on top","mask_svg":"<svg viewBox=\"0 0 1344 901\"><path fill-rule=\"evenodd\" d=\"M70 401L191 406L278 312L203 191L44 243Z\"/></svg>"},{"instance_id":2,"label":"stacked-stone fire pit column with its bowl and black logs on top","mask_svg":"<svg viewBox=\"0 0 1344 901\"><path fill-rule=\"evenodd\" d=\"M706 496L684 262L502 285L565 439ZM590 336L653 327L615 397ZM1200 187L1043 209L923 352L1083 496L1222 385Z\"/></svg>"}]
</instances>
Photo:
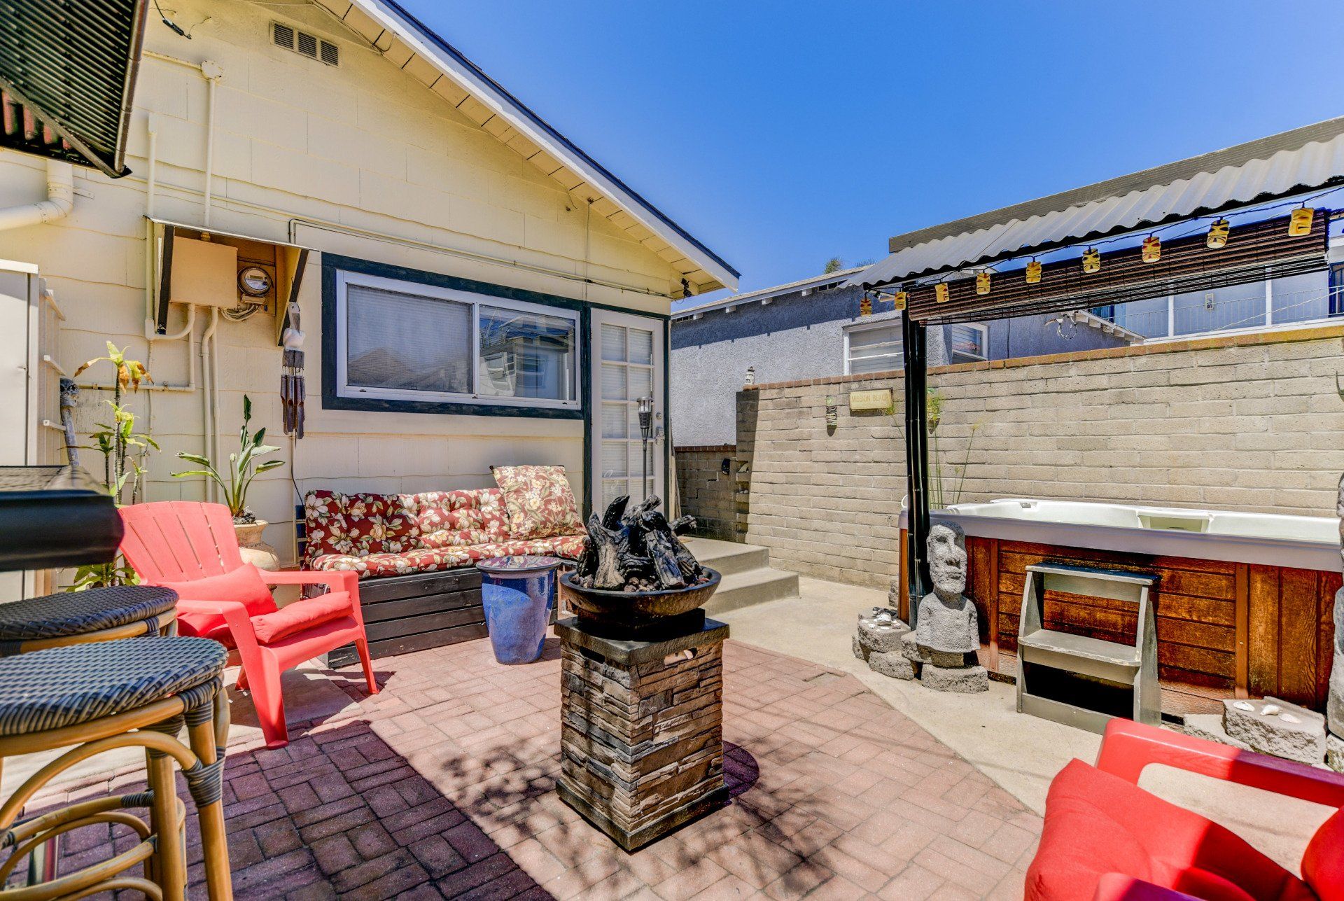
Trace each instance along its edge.
<instances>
[{"instance_id":1,"label":"stacked-stone fire pit column with its bowl and black logs on top","mask_svg":"<svg viewBox=\"0 0 1344 901\"><path fill-rule=\"evenodd\" d=\"M700 605L719 574L676 538L657 498L587 524L562 577L578 616L560 639L560 799L626 851L723 807L723 640Z\"/></svg>"}]
</instances>

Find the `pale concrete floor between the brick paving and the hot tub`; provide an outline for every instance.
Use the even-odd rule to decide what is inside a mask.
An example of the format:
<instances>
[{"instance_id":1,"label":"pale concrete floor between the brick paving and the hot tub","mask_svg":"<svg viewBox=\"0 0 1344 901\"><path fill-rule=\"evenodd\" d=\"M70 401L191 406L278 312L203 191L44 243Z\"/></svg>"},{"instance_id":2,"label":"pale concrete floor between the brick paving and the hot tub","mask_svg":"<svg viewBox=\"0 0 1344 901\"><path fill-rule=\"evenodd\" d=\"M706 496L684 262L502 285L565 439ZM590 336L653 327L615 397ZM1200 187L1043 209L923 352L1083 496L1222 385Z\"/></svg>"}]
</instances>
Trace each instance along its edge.
<instances>
[{"instance_id":1,"label":"pale concrete floor between the brick paving and the hot tub","mask_svg":"<svg viewBox=\"0 0 1344 901\"><path fill-rule=\"evenodd\" d=\"M1050 780L1064 764L1074 757L1097 758L1101 736L1016 713L1015 690L1008 683L991 682L985 694L957 695L870 670L851 648L855 620L860 611L886 605L886 592L804 577L800 597L732 611L720 619L739 641L853 675L1038 814L1044 811ZM1335 812L1167 767L1150 768L1140 784L1227 826L1294 873L1306 842Z\"/></svg>"}]
</instances>

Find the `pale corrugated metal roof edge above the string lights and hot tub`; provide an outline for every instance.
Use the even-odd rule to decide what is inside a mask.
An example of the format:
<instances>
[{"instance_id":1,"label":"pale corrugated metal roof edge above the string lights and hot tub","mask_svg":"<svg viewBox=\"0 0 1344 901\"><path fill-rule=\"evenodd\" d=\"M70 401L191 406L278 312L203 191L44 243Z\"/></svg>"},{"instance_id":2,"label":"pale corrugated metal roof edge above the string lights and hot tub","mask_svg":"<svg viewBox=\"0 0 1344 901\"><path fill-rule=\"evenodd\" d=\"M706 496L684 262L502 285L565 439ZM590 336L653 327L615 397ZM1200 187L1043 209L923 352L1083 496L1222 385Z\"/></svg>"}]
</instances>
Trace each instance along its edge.
<instances>
[{"instance_id":1,"label":"pale corrugated metal roof edge above the string lights and hot tub","mask_svg":"<svg viewBox=\"0 0 1344 901\"><path fill-rule=\"evenodd\" d=\"M1297 140L1293 140L1294 136ZM1191 168L1198 168L1192 167L1193 163L1204 163L1208 168L1191 172ZM1181 178L1169 178L1177 173ZM1004 218L982 214L948 225L948 229L956 229L992 222L984 227L948 231L943 237L903 247L899 246L902 238L892 238L895 251L847 284L864 288L890 285L1340 183L1344 183L1344 118L1005 207L999 211ZM1103 187L1111 187L1117 194L1063 207L1052 203L1095 195L1091 188ZM935 230L917 234L923 237L935 234Z\"/></svg>"}]
</instances>

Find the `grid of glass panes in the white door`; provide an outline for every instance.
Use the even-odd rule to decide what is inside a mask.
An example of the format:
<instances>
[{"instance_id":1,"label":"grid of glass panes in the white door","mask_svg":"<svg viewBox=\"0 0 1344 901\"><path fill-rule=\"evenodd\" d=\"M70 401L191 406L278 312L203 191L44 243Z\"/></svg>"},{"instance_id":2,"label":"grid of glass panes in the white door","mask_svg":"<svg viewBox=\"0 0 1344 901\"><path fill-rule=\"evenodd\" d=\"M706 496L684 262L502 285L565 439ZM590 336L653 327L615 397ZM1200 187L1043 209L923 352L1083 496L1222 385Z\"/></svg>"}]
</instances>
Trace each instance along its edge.
<instances>
[{"instance_id":1,"label":"grid of glass panes in the white door","mask_svg":"<svg viewBox=\"0 0 1344 901\"><path fill-rule=\"evenodd\" d=\"M602 506L621 495L636 502L653 491L653 463L645 464L644 441L640 432L641 397L655 394L653 342L655 332L636 325L602 325L601 329L601 395L602 395ZM661 409L661 398L655 398ZM656 455L649 441L650 457ZM646 484L641 475L649 469Z\"/></svg>"}]
</instances>

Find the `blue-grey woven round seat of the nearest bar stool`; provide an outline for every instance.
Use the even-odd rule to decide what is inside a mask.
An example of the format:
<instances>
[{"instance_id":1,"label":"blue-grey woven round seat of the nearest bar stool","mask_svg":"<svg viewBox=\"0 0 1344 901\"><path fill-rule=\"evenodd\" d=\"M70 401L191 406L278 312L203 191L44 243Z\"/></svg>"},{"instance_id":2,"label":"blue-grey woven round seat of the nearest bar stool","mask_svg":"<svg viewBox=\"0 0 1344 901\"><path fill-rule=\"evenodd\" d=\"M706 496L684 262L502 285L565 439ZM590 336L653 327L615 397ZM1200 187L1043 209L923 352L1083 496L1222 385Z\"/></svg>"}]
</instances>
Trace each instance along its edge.
<instances>
[{"instance_id":1,"label":"blue-grey woven round seat of the nearest bar stool","mask_svg":"<svg viewBox=\"0 0 1344 901\"><path fill-rule=\"evenodd\" d=\"M219 678L228 652L210 639L141 637L0 659L0 737L91 722Z\"/></svg>"}]
</instances>

